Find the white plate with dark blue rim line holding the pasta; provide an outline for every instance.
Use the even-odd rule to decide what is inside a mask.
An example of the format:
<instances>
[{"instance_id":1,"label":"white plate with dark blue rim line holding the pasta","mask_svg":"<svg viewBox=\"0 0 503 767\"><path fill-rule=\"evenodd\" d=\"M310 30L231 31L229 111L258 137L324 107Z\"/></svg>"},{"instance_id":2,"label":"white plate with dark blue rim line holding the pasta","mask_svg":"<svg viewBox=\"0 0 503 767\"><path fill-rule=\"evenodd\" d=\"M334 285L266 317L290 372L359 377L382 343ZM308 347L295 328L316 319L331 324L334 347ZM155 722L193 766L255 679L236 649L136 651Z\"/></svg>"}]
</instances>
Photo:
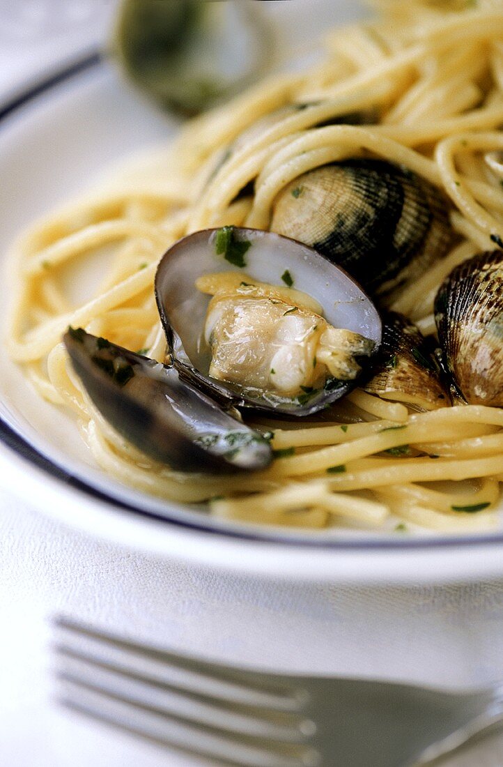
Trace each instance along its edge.
<instances>
[{"instance_id":1,"label":"white plate with dark blue rim line holding the pasta","mask_svg":"<svg viewBox=\"0 0 503 767\"><path fill-rule=\"evenodd\" d=\"M36 97L28 94L0 123L0 253L29 222L80 193L104 168L166 140L174 130L174 120L143 103L106 63L62 77ZM3 262L2 268L5 272ZM8 275L2 280L5 285ZM2 446L0 456L8 485L44 512L96 535L215 566L303 580L417 582L503 571L501 533L320 536L225 523L140 494L94 466L71 417L42 402L5 354L0 355L0 418L6 425L8 447Z\"/></svg>"}]
</instances>

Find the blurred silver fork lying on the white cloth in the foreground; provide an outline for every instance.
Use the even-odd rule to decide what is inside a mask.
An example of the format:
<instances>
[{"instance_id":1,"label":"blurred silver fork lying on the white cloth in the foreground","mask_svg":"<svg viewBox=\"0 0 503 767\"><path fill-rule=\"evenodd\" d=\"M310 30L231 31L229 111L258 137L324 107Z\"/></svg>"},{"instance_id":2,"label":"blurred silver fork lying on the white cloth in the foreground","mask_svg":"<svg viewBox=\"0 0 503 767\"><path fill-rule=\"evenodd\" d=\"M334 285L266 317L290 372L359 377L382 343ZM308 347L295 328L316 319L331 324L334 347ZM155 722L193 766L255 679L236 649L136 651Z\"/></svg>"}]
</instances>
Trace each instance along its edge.
<instances>
[{"instance_id":1,"label":"blurred silver fork lying on the white cloth in the foreground","mask_svg":"<svg viewBox=\"0 0 503 767\"><path fill-rule=\"evenodd\" d=\"M503 722L503 687L445 693L207 663L54 620L64 706L235 767L426 767Z\"/></svg>"}]
</instances>

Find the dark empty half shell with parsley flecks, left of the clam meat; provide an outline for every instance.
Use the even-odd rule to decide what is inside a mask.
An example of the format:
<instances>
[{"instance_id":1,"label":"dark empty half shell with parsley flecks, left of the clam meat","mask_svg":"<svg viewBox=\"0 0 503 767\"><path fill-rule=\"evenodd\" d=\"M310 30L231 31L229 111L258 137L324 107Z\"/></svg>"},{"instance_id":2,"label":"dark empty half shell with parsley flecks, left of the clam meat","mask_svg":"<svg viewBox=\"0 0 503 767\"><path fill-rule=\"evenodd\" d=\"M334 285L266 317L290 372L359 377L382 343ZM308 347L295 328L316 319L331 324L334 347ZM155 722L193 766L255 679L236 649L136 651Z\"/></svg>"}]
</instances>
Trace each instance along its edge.
<instances>
[{"instance_id":1,"label":"dark empty half shell with parsley flecks, left of the clam meat","mask_svg":"<svg viewBox=\"0 0 503 767\"><path fill-rule=\"evenodd\" d=\"M147 456L173 469L264 469L271 447L174 367L70 328L64 344L97 410Z\"/></svg>"}]
</instances>

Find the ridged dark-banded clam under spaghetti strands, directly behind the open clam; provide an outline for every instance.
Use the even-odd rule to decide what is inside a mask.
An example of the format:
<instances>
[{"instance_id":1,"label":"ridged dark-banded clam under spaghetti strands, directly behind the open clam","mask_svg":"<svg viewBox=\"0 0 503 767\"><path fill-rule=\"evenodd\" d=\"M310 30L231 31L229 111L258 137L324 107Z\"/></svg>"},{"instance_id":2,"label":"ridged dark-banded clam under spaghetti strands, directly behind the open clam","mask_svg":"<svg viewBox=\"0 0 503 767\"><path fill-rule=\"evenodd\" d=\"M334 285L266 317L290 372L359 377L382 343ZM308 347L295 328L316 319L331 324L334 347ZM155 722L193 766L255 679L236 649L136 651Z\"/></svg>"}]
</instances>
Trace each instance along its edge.
<instances>
[{"instance_id":1,"label":"ridged dark-banded clam under spaghetti strands, directly behind the open clam","mask_svg":"<svg viewBox=\"0 0 503 767\"><path fill-rule=\"evenodd\" d=\"M384 305L442 258L454 236L442 193L383 160L298 176L276 197L270 229L326 255Z\"/></svg>"}]
</instances>

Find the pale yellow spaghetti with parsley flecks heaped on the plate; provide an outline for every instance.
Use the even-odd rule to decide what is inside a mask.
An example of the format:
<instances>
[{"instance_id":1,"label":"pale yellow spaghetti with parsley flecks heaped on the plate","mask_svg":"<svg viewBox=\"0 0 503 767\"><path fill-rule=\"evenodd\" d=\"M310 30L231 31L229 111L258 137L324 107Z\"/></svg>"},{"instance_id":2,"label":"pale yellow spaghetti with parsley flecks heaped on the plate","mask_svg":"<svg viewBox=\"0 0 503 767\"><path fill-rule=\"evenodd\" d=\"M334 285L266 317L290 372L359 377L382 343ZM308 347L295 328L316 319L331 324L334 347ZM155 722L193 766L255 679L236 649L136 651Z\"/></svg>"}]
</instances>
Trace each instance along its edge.
<instances>
[{"instance_id":1,"label":"pale yellow spaghetti with parsley flecks heaped on the plate","mask_svg":"<svg viewBox=\"0 0 503 767\"><path fill-rule=\"evenodd\" d=\"M163 361L153 278L169 245L209 227L268 229L271 206L288 183L358 157L406 166L452 201L455 246L392 306L424 334L435 331L439 284L503 235L494 161L503 151L503 12L491 0L374 5L376 21L325 36L324 58L309 71L270 77L192 120L166 150L36 223L15 245L8 351L42 397L77 414L97 463L120 481L176 502L207 501L216 515L255 523L389 529L405 520L445 531L498 525L499 408L418 413L355 390L323 420L253 421L273 431L276 459L264 472L173 472L113 431L61 344L67 326L80 325ZM308 106L284 109L292 104ZM333 124L359 110L376 119ZM253 192L240 196L250 184ZM101 284L84 300L72 298L67 275L97 258ZM447 488L439 484L445 480L452 481Z\"/></svg>"}]
</instances>

